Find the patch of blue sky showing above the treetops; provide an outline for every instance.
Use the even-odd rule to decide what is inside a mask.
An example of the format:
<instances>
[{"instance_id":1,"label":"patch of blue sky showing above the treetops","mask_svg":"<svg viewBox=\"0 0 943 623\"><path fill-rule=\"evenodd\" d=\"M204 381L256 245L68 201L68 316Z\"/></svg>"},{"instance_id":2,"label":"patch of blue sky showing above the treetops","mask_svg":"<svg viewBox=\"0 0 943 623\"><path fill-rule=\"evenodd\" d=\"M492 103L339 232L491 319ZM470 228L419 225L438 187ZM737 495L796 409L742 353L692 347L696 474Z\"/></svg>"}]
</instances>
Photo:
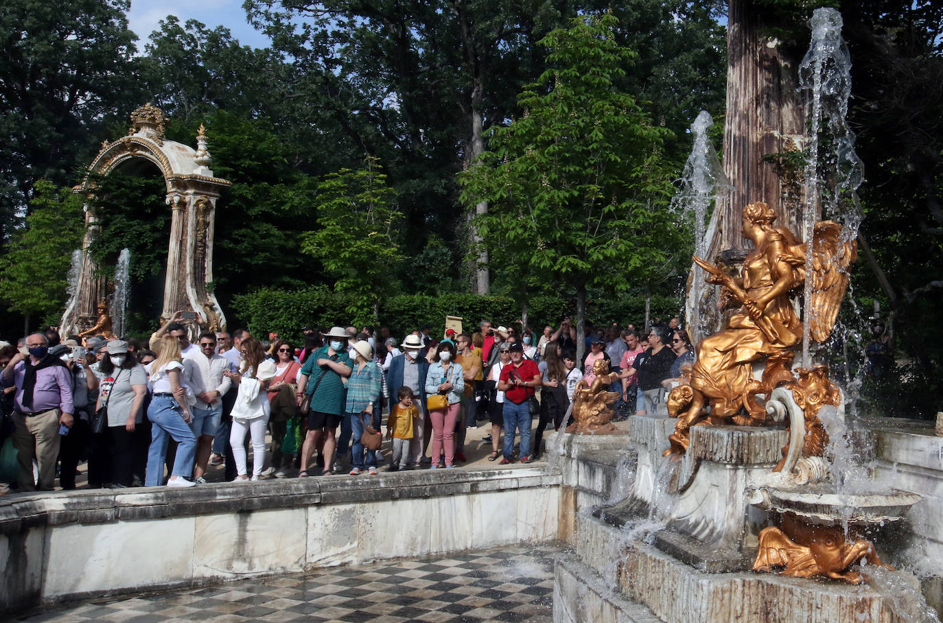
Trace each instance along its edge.
<instances>
[{"instance_id":1,"label":"patch of blue sky showing above the treetops","mask_svg":"<svg viewBox=\"0 0 943 623\"><path fill-rule=\"evenodd\" d=\"M269 44L267 37L246 22L242 0L131 0L127 20L138 35L140 52L147 37L157 30L157 22L168 15L176 15L181 23L193 19L210 28L226 26L243 45L265 47Z\"/></svg>"}]
</instances>

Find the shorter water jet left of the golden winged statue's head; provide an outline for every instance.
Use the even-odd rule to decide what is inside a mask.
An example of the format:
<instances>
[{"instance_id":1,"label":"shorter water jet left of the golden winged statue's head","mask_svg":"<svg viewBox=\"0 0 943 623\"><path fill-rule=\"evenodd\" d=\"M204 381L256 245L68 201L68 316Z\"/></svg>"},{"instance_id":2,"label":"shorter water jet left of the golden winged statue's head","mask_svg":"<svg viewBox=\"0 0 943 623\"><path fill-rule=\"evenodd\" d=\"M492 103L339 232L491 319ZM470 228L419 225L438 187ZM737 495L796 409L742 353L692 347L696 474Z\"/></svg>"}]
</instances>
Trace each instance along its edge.
<instances>
[{"instance_id":1,"label":"shorter water jet left of the golden winged statue's head","mask_svg":"<svg viewBox=\"0 0 943 623\"><path fill-rule=\"evenodd\" d=\"M681 178L681 190L671 200L674 210L682 211L694 220L694 253L703 257L707 253L707 240L704 235L704 221L711 202L716 199L716 189L732 188L723 174L720 159L713 143L707 137L707 130L714 125L710 113L702 110L694 123L691 123L691 135L694 145L687 156L685 171ZM699 340L708 333L703 326L701 298L704 292L703 271L693 271L691 288L687 293L687 326L693 330L691 339Z\"/></svg>"}]
</instances>

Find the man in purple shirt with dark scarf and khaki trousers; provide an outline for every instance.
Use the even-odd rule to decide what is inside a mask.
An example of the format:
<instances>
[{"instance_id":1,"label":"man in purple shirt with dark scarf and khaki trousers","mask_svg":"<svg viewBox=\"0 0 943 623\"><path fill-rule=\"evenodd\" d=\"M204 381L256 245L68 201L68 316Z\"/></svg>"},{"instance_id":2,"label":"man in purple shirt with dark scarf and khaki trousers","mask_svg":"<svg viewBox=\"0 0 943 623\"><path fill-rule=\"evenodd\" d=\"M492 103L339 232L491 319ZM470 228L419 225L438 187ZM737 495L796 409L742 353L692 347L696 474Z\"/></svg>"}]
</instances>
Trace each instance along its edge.
<instances>
[{"instance_id":1,"label":"man in purple shirt with dark scarf and khaki trousers","mask_svg":"<svg viewBox=\"0 0 943 623\"><path fill-rule=\"evenodd\" d=\"M2 385L16 386L13 446L21 491L53 489L59 426L72 428L73 424L72 374L56 355L49 354L48 344L41 333L26 337L25 352L13 355L3 369ZM40 466L38 484L33 484L34 458Z\"/></svg>"}]
</instances>

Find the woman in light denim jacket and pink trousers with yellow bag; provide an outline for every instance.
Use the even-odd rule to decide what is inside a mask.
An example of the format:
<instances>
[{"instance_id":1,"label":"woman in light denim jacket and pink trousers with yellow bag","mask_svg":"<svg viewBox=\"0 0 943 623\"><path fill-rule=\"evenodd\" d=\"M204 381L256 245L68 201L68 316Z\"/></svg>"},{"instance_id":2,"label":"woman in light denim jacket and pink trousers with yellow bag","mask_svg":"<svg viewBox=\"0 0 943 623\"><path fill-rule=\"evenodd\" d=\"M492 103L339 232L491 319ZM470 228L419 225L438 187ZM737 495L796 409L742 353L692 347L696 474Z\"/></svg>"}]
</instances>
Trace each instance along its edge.
<instances>
[{"instance_id":1,"label":"woman in light denim jacket and pink trousers with yellow bag","mask_svg":"<svg viewBox=\"0 0 943 623\"><path fill-rule=\"evenodd\" d=\"M425 377L425 393L444 394L449 406L429 411L432 420L432 468L441 467L438 457L444 451L445 467L455 467L455 420L465 391L465 371L455 363L455 344L451 339L438 343L436 362ZM442 446L444 445L444 449Z\"/></svg>"}]
</instances>

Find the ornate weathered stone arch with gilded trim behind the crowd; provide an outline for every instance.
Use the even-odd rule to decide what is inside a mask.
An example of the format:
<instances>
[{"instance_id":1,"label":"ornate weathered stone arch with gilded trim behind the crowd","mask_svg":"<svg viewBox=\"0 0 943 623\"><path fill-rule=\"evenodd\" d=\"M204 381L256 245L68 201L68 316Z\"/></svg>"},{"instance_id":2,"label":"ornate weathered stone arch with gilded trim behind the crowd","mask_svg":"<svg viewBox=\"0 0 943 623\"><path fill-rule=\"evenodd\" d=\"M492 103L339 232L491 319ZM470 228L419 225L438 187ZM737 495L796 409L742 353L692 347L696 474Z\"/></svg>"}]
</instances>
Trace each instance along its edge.
<instances>
[{"instance_id":1,"label":"ornate weathered stone arch with gilded trim behind the crowd","mask_svg":"<svg viewBox=\"0 0 943 623\"><path fill-rule=\"evenodd\" d=\"M131 113L131 129L127 136L102 143L89 172L74 192L84 195L85 238L82 242L84 261L76 292L62 316L63 335L83 331L97 317L95 307L107 300L105 279L96 276L96 267L89 249L101 230L95 216L95 180L108 175L131 159L148 160L157 166L167 188L167 205L172 211L171 236L167 254L167 277L161 321L178 310L196 312L201 328L221 331L226 320L223 309L210 286L213 280L213 231L216 202L220 192L231 186L215 177L209 165L212 157L207 150L206 129L201 125L196 136L196 149L174 140L164 139L166 117L160 108L146 104ZM196 328L194 327L195 331Z\"/></svg>"}]
</instances>

